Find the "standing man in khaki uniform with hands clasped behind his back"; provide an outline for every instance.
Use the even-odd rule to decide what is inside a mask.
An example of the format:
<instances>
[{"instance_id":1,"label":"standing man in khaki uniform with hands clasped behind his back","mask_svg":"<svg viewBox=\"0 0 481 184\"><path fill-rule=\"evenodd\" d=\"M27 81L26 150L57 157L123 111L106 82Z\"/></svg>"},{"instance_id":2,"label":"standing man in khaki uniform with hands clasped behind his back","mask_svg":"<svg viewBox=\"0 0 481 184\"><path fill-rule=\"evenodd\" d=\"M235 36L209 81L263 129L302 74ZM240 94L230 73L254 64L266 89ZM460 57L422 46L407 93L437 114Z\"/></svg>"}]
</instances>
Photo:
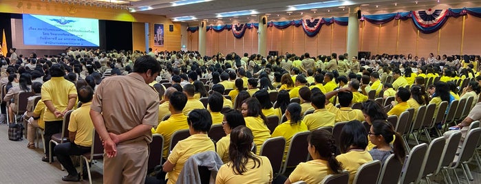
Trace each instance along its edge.
<instances>
[{"instance_id":1,"label":"standing man in khaki uniform with hands clasped behind his back","mask_svg":"<svg viewBox=\"0 0 481 184\"><path fill-rule=\"evenodd\" d=\"M145 182L150 130L159 112L159 95L149 83L159 72L156 59L142 56L133 73L106 78L96 90L90 116L104 141L104 183Z\"/></svg>"}]
</instances>

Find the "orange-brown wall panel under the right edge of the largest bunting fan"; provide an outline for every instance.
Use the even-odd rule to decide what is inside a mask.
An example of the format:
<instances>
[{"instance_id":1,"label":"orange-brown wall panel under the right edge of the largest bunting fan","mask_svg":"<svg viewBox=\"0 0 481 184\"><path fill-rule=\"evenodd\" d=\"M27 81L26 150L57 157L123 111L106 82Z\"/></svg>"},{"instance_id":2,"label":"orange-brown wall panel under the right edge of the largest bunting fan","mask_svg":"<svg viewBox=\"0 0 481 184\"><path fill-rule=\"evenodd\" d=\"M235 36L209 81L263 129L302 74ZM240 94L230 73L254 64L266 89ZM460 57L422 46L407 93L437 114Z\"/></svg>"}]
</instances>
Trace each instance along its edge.
<instances>
[{"instance_id":1,"label":"orange-brown wall panel under the right edge of the largest bunting fan","mask_svg":"<svg viewBox=\"0 0 481 184\"><path fill-rule=\"evenodd\" d=\"M438 35L439 32L441 34L439 51L435 49L433 51L434 55L442 56L442 54L446 54L449 56L453 54L460 54L462 17L459 17L457 19L454 17L449 17L445 25L442 26L441 30L433 34ZM478 37L478 36L475 36L475 37ZM469 38L469 37L464 37L464 38ZM436 48L437 47L438 45L436 45Z\"/></svg>"}]
</instances>

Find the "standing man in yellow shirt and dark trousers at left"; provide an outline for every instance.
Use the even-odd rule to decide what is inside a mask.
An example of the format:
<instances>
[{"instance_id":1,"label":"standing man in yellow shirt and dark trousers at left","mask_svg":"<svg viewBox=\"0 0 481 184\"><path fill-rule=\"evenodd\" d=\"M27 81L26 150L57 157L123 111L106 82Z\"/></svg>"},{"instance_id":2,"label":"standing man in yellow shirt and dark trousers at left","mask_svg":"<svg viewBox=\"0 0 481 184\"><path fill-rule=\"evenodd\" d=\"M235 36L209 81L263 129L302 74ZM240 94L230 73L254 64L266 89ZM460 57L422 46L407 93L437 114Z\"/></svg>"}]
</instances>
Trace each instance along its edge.
<instances>
[{"instance_id":1,"label":"standing man in yellow shirt and dark trousers at left","mask_svg":"<svg viewBox=\"0 0 481 184\"><path fill-rule=\"evenodd\" d=\"M63 115L67 111L74 108L77 99L77 90L74 83L63 78L65 70L62 65L55 64L49 69L52 78L42 85L41 101L45 104L45 113L43 121L45 122L45 157L42 161L50 162L53 158L49 158L50 148L48 144L52 135L61 133ZM52 147L54 148L54 147Z\"/></svg>"}]
</instances>

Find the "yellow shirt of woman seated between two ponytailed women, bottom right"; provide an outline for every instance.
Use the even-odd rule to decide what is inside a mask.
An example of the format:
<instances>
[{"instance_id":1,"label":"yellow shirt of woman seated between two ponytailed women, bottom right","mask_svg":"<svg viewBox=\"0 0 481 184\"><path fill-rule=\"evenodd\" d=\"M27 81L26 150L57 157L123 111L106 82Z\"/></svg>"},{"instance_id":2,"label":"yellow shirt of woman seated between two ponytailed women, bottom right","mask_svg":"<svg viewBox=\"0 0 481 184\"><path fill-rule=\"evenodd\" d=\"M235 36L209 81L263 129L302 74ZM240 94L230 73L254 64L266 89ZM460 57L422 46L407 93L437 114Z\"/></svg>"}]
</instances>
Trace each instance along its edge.
<instances>
[{"instance_id":1,"label":"yellow shirt of woman seated between two ponytailed women, bottom right","mask_svg":"<svg viewBox=\"0 0 481 184\"><path fill-rule=\"evenodd\" d=\"M339 154L337 155L336 159L343 165L344 170L348 170L349 183L354 181L354 176L356 176L357 169L359 169L361 165L372 161L371 154L365 150L350 151L344 154Z\"/></svg>"}]
</instances>

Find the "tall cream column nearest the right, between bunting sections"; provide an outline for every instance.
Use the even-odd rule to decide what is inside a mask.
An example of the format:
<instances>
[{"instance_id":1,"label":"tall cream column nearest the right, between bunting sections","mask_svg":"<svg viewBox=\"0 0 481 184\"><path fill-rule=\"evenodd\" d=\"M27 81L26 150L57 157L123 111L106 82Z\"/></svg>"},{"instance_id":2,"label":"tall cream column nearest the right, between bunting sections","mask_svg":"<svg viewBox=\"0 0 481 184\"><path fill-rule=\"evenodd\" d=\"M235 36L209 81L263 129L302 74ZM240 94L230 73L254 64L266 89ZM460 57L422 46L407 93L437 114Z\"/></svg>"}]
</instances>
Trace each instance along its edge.
<instances>
[{"instance_id":1,"label":"tall cream column nearest the right, between bunting sections","mask_svg":"<svg viewBox=\"0 0 481 184\"><path fill-rule=\"evenodd\" d=\"M349 8L349 22L348 22L348 54L346 58L351 60L352 56L357 56L359 51L359 19L357 19L357 10L359 7Z\"/></svg>"}]
</instances>

